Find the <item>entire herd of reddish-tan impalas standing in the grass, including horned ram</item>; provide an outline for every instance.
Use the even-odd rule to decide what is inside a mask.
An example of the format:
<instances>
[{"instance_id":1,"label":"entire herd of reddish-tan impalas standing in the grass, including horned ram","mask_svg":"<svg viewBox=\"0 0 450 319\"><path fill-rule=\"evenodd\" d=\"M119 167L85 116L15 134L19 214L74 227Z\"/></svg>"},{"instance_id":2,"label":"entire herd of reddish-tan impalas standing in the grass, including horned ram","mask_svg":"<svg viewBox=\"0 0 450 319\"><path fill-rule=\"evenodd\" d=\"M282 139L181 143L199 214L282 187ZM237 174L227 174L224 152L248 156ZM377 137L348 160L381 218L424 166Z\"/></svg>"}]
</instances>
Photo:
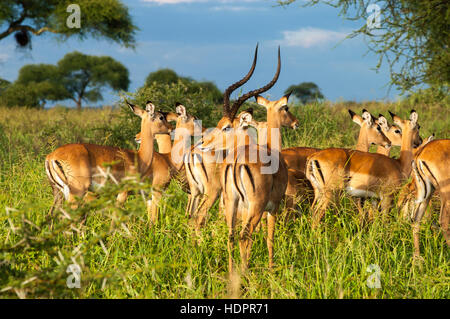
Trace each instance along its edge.
<instances>
[{"instance_id":1,"label":"entire herd of reddish-tan impalas standing in the grass, including horned ram","mask_svg":"<svg viewBox=\"0 0 450 319\"><path fill-rule=\"evenodd\" d=\"M275 223L281 201L285 200L286 209L296 211L296 199L306 199L313 212L312 226L317 227L330 202L343 192L356 198L361 222L370 221L378 205L385 216L400 192L399 208L413 221L414 257L420 257L419 226L431 195L437 190L441 199L440 225L450 245L450 140L432 140L432 136L423 141L414 110L409 119L389 112L394 125L389 125L381 114L376 118L367 110L361 116L349 110L353 122L360 126L354 149L281 149L280 128L296 129L301 123L289 112L289 94L277 101L260 95L278 80L279 49L273 79L243 94L232 105L230 102L231 93L252 76L257 52L258 46L247 75L225 90L223 117L212 130L202 129L180 103L173 113L157 111L150 101L145 110L126 101L131 111L141 118L141 131L136 135L140 143L138 151L68 144L49 154L45 170L55 197L51 212L63 199L74 207L77 198L89 199L108 176L120 181L130 174L138 174L152 185L147 213L150 224L154 224L163 191L177 177L184 181L183 190L188 194L186 215L196 232L206 224L210 208L220 197L219 210L228 226L231 274L238 221L242 223L238 235L242 269L248 266L252 233L262 218L267 218L269 267L272 267ZM266 122L255 121L252 109L238 114L240 106L252 97L266 108ZM173 144L171 121L176 122ZM191 145L194 134L200 138ZM155 141L158 152L154 149ZM377 152L369 153L373 144L378 145ZM389 157L392 146L401 147L398 159ZM104 173L105 164L109 165L109 174ZM403 186L410 176L412 182ZM127 195L127 191L119 193L117 201L123 203ZM369 216L363 209L365 201L372 204Z\"/></svg>"}]
</instances>

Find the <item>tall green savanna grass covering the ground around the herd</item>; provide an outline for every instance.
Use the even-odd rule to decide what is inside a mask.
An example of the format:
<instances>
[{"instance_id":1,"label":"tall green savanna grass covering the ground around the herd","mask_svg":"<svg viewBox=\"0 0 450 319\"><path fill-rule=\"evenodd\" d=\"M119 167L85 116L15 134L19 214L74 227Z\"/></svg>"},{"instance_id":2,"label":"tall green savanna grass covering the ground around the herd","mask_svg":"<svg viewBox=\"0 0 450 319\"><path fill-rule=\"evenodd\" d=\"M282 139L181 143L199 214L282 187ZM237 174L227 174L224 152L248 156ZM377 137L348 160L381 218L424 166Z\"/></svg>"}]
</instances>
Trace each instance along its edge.
<instances>
[{"instance_id":1,"label":"tall green savanna grass covering the ground around the herd","mask_svg":"<svg viewBox=\"0 0 450 319\"><path fill-rule=\"evenodd\" d=\"M407 117L412 107L400 102L294 106L300 128L283 131L284 147L354 146L359 127L350 120L348 108L357 113L366 108L390 118L387 110ZM414 108L422 137L433 132L436 138L450 137L449 105ZM138 124L137 117L121 109L0 108L0 297L450 297L450 250L433 227L437 203L421 230L419 264L412 262L410 224L396 208L386 220L376 219L360 229L354 206L343 198L317 230L311 229L307 207L297 220L277 224L273 270L267 267L264 232L255 233L249 271L232 284L226 225L217 214L217 203L196 241L184 215L187 196L175 182L153 228L148 227L140 192L150 185L133 180L119 186L108 183L96 200L74 211L64 206L48 219L53 195L44 170L46 154L73 142L135 148ZM122 187L135 190L135 195L117 207L115 195ZM87 223L80 226L85 212ZM66 269L74 262L82 271L79 289L66 285ZM379 267L379 289L367 285L375 274L368 271L370 265Z\"/></svg>"}]
</instances>

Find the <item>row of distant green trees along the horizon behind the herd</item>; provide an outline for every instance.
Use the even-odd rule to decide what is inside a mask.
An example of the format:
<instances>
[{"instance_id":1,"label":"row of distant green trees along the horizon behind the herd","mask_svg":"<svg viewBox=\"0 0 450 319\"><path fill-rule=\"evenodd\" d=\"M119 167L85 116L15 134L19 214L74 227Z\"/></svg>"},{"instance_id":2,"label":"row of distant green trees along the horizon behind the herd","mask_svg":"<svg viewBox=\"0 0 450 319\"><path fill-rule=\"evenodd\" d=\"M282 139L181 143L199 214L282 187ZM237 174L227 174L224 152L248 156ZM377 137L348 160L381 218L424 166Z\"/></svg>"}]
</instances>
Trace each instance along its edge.
<instances>
[{"instance_id":1,"label":"row of distant green trees along the horizon behind the herd","mask_svg":"<svg viewBox=\"0 0 450 319\"><path fill-rule=\"evenodd\" d=\"M126 91L129 84L128 70L120 62L108 56L75 51L66 54L56 65L23 66L12 83L0 79L0 105L43 108L48 102L72 100L81 109L83 103L101 101L103 89ZM291 85L287 92L302 103L324 98L312 82ZM151 72L144 85L131 95L139 103L150 99L170 107L178 101L190 101L202 116L215 113L216 105L223 99L213 82L196 81L167 68Z\"/></svg>"}]
</instances>

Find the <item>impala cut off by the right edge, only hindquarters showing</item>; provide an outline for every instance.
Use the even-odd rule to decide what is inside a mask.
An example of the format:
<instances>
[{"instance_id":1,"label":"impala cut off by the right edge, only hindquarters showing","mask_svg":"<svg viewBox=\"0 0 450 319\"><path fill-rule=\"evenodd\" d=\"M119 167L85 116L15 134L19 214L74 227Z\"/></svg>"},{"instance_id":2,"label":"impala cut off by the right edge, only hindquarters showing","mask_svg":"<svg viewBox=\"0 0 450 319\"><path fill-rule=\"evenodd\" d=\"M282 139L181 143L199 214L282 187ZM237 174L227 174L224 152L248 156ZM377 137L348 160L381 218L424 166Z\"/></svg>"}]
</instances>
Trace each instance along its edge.
<instances>
[{"instance_id":1,"label":"impala cut off by the right edge, only hindquarters showing","mask_svg":"<svg viewBox=\"0 0 450 319\"><path fill-rule=\"evenodd\" d=\"M450 140L429 142L416 154L412 168L416 182L417 207L413 215L414 257L420 257L420 221L435 190L441 197L439 223L450 246Z\"/></svg>"}]
</instances>

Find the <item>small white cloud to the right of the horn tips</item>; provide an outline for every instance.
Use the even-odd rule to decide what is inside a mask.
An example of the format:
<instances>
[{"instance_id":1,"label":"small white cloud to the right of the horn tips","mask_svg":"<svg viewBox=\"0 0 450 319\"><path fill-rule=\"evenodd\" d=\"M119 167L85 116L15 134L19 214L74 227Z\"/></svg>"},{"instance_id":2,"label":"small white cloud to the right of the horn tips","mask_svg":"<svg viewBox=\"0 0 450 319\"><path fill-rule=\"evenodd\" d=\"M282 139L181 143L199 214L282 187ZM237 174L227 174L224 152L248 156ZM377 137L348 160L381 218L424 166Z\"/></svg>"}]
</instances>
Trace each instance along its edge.
<instances>
[{"instance_id":1,"label":"small white cloud to the right of the horn tips","mask_svg":"<svg viewBox=\"0 0 450 319\"><path fill-rule=\"evenodd\" d=\"M311 48L327 43L337 43L347 36L347 32L318 29L313 27L301 28L295 31L283 31L283 39L279 44L290 47Z\"/></svg>"}]
</instances>

